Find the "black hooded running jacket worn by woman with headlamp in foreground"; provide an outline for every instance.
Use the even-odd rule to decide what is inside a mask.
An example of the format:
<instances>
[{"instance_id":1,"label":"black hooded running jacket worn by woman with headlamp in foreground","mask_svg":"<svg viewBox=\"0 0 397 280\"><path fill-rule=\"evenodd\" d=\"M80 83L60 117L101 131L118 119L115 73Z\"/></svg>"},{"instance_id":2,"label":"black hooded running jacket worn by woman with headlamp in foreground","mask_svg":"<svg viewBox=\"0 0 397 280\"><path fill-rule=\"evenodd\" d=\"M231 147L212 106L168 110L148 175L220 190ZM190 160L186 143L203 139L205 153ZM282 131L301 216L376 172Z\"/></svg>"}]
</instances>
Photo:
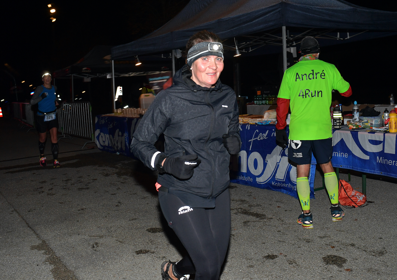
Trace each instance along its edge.
<instances>
[{"instance_id":1,"label":"black hooded running jacket worn by woman with headlamp in foreground","mask_svg":"<svg viewBox=\"0 0 397 280\"><path fill-rule=\"evenodd\" d=\"M239 134L236 95L220 80L215 87L201 87L190 79L187 65L173 77L174 85L156 95L131 141L131 152L156 170L154 147L164 133L164 153L179 157L197 154L201 163L189 180L159 174L157 182L170 189L193 193L203 198L217 197L229 186L229 161L222 135ZM240 141L241 142L241 141Z\"/></svg>"}]
</instances>

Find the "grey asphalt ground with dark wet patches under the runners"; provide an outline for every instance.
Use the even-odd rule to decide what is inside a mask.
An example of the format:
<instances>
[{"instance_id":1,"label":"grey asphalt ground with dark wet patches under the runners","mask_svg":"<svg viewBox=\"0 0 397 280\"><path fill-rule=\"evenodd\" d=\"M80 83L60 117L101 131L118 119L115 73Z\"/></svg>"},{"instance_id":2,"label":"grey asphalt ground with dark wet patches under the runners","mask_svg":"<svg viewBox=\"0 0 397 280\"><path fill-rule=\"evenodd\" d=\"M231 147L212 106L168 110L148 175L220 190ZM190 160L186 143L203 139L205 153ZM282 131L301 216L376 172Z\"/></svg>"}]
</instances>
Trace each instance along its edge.
<instances>
[{"instance_id":1,"label":"grey asphalt ground with dark wet patches under the runners","mask_svg":"<svg viewBox=\"0 0 397 280\"><path fill-rule=\"evenodd\" d=\"M162 217L156 172L87 139L60 139L61 168L39 166L37 132L0 118L0 279L160 280L185 250ZM347 174L341 174L347 180ZM371 179L372 178L372 179ZM361 176L351 176L361 189ZM322 184L316 173L315 187ZM397 279L396 181L368 176L366 207L332 222L325 190L311 200L230 185L231 238L221 280Z\"/></svg>"}]
</instances>

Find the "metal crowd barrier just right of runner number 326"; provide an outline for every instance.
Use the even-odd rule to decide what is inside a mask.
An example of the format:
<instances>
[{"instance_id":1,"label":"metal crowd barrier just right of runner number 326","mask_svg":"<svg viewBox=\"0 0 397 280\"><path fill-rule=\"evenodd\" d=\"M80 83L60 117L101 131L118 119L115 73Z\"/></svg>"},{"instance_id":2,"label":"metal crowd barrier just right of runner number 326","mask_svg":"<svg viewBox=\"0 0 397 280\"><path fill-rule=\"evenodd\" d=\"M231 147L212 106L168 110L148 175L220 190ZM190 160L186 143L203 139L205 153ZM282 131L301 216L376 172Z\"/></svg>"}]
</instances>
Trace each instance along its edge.
<instances>
[{"instance_id":1,"label":"metal crowd barrier just right of runner number 326","mask_svg":"<svg viewBox=\"0 0 397 280\"><path fill-rule=\"evenodd\" d=\"M83 145L83 148L88 143L94 143L90 102L62 102L56 112L59 122L58 131L62 133L61 138L70 138L70 135L72 135L91 139Z\"/></svg>"}]
</instances>

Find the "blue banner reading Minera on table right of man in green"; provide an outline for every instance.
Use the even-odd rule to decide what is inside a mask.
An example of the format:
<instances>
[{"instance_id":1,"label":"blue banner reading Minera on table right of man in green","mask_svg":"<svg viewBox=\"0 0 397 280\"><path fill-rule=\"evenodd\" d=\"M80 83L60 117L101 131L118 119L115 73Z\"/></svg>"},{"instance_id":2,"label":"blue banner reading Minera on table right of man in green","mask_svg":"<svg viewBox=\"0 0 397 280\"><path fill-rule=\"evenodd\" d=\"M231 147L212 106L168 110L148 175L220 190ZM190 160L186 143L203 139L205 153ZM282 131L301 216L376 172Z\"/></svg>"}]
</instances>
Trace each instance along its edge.
<instances>
[{"instance_id":1,"label":"blue banner reading Minera on table right of man in green","mask_svg":"<svg viewBox=\"0 0 397 280\"><path fill-rule=\"evenodd\" d=\"M332 165L397 178L396 133L334 130Z\"/></svg>"}]
</instances>

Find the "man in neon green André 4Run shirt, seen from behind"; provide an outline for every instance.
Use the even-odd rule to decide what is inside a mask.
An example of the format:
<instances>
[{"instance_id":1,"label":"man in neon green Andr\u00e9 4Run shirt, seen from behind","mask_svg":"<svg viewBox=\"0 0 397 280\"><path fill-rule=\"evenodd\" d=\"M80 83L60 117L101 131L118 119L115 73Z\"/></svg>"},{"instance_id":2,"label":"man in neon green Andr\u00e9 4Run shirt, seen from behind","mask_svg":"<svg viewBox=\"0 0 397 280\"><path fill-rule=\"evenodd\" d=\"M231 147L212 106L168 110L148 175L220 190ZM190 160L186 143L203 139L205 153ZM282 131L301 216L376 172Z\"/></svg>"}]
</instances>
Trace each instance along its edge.
<instances>
[{"instance_id":1,"label":"man in neon green Andr\u00e9 4Run shirt, seen from behind","mask_svg":"<svg viewBox=\"0 0 397 280\"><path fill-rule=\"evenodd\" d=\"M278 93L276 142L282 148L288 143L288 158L297 164L297 192L303 210L297 222L303 228L313 228L308 182L312 153L324 172L332 220L341 221L345 215L338 204L338 181L331 164L330 106L333 89L345 97L352 91L333 64L318 59L320 46L316 39L305 37L300 53L299 62L284 72ZM291 122L287 137L285 117L289 106Z\"/></svg>"}]
</instances>

